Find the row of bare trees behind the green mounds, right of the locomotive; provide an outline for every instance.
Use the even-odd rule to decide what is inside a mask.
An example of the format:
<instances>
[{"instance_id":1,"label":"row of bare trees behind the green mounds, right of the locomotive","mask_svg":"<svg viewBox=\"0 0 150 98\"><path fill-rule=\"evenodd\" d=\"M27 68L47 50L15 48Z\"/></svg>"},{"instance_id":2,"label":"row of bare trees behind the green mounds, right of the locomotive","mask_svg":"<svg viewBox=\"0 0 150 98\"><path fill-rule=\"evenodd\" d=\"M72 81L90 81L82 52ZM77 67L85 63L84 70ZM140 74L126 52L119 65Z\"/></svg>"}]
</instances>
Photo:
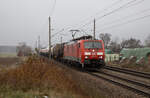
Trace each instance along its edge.
<instances>
[{"instance_id":1,"label":"row of bare trees behind the green mounds, right of the locomotive","mask_svg":"<svg viewBox=\"0 0 150 98\"><path fill-rule=\"evenodd\" d=\"M140 39L130 37L128 39L119 40L118 37L112 39L112 35L109 33L101 33L99 38L103 40L105 48L110 49L114 53L120 53L124 48L135 49L135 48L145 48L150 47L150 34L146 39L142 41ZM144 43L142 43L144 41Z\"/></svg>"}]
</instances>

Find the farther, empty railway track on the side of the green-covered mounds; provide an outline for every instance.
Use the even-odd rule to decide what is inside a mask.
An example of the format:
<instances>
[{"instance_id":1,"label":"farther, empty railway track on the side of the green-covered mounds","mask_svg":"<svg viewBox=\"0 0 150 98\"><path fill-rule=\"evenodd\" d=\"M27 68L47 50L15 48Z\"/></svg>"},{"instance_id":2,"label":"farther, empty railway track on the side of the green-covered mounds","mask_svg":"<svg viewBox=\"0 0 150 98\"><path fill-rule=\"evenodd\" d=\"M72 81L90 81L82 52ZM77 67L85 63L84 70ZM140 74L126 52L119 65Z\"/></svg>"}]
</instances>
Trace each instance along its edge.
<instances>
[{"instance_id":1,"label":"farther, empty railway track on the side of the green-covered mounds","mask_svg":"<svg viewBox=\"0 0 150 98\"><path fill-rule=\"evenodd\" d=\"M145 78L145 79L150 79L150 73L144 73L144 72L123 69L123 68L118 68L118 67L112 67L112 66L105 66L104 69L121 72L121 73L125 73L125 74L130 74L130 75Z\"/></svg>"}]
</instances>

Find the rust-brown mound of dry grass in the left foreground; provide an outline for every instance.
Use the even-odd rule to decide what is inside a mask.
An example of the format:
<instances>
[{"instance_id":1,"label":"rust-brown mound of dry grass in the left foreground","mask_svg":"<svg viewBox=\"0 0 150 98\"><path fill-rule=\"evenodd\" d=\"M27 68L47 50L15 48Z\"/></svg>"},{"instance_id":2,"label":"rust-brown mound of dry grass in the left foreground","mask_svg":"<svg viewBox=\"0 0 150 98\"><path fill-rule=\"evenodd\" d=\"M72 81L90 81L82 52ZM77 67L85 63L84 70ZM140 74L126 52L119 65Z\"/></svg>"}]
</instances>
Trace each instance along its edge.
<instances>
[{"instance_id":1,"label":"rust-brown mound of dry grass in the left foreground","mask_svg":"<svg viewBox=\"0 0 150 98\"><path fill-rule=\"evenodd\" d=\"M68 95L77 95L80 96L79 98L87 98L85 96L88 96L74 82L73 77L61 67L56 66L54 61L49 62L36 56L29 57L24 64L17 68L3 69L0 72L0 96L7 93L7 90L13 90L14 92L33 90L46 92L47 94L49 94L49 91L67 92Z\"/></svg>"}]
</instances>

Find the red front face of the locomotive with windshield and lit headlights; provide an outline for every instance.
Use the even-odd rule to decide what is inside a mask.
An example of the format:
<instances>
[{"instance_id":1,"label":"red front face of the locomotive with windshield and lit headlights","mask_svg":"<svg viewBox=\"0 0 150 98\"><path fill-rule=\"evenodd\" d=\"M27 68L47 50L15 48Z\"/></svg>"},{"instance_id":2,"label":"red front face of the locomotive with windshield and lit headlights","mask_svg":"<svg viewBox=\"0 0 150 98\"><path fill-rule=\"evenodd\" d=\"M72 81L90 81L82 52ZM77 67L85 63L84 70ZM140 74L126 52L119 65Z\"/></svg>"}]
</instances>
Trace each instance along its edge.
<instances>
[{"instance_id":1,"label":"red front face of the locomotive with windshield and lit headlights","mask_svg":"<svg viewBox=\"0 0 150 98\"><path fill-rule=\"evenodd\" d=\"M80 46L82 67L100 68L105 65L105 50L102 40L82 40Z\"/></svg>"}]
</instances>

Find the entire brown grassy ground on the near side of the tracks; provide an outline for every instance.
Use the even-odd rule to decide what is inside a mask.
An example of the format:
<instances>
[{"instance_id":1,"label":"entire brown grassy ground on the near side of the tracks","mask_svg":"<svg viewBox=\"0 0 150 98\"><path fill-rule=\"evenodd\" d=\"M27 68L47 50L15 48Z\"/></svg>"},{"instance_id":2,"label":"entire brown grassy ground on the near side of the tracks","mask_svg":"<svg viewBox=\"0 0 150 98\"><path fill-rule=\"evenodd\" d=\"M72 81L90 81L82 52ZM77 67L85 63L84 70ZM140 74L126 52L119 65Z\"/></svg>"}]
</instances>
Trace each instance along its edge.
<instances>
[{"instance_id":1,"label":"entire brown grassy ground on the near side of the tracks","mask_svg":"<svg viewBox=\"0 0 150 98\"><path fill-rule=\"evenodd\" d=\"M142 98L38 56L0 58L0 98Z\"/></svg>"}]
</instances>

